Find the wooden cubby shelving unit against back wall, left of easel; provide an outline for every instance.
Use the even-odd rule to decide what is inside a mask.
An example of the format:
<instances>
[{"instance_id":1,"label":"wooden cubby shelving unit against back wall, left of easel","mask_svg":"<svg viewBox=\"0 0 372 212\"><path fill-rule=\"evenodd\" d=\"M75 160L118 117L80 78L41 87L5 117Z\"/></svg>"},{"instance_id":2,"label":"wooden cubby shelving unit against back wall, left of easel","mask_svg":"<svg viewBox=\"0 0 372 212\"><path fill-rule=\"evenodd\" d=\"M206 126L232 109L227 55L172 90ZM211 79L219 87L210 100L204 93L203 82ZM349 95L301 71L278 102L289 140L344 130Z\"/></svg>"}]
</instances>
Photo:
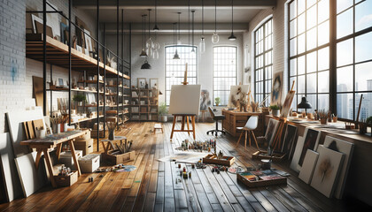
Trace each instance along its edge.
<instances>
[{"instance_id":1,"label":"wooden cubby shelving unit against back wall, left of easel","mask_svg":"<svg viewBox=\"0 0 372 212\"><path fill-rule=\"evenodd\" d=\"M131 120L158 121L158 108L158 89L132 89Z\"/></svg>"}]
</instances>

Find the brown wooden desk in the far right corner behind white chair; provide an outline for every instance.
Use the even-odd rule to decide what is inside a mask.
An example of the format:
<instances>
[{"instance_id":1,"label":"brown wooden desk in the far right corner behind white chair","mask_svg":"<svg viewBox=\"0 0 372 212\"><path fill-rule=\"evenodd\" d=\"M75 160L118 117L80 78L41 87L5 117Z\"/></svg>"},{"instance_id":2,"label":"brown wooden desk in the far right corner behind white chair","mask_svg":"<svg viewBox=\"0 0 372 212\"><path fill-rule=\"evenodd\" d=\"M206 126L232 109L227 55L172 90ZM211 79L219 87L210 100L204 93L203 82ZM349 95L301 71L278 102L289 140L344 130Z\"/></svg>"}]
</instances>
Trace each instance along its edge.
<instances>
[{"instance_id":1,"label":"brown wooden desk in the far right corner behind white chair","mask_svg":"<svg viewBox=\"0 0 372 212\"><path fill-rule=\"evenodd\" d=\"M236 127L243 127L251 116L259 116L259 125L254 131L256 136L265 134L264 121L260 112L239 112L234 110L222 110L222 115L226 118L223 120L223 129L234 137L238 137L241 131L236 130Z\"/></svg>"}]
</instances>

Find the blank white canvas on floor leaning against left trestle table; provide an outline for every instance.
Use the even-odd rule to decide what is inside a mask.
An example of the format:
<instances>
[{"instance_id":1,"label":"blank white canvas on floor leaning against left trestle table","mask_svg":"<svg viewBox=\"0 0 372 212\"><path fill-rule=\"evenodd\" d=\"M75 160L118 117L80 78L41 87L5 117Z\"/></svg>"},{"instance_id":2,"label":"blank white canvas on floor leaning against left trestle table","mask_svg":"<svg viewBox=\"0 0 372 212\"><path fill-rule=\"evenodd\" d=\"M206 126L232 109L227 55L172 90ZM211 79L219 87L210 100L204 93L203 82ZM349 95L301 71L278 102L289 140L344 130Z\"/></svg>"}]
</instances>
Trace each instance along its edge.
<instances>
[{"instance_id":1,"label":"blank white canvas on floor leaning against left trestle table","mask_svg":"<svg viewBox=\"0 0 372 212\"><path fill-rule=\"evenodd\" d=\"M32 152L14 159L25 197L35 193L48 183L43 157L36 170L36 154L36 152Z\"/></svg>"}]
</instances>

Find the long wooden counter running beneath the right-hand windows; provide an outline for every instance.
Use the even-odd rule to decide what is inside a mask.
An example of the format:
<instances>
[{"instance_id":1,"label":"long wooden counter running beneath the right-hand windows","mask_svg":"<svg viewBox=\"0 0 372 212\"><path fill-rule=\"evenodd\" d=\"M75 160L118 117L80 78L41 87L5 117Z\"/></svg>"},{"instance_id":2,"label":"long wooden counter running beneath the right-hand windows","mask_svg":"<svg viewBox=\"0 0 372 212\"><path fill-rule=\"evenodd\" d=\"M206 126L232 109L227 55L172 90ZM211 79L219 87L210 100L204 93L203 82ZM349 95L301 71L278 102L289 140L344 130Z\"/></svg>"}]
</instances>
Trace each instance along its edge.
<instances>
[{"instance_id":1,"label":"long wooden counter running beneath the right-hand windows","mask_svg":"<svg viewBox=\"0 0 372 212\"><path fill-rule=\"evenodd\" d=\"M265 117L265 122L268 123L270 118L278 119L278 117L267 115ZM296 125L298 127L298 135L300 136L304 135L306 127L320 131L321 139L319 140L319 144L324 143L324 139L327 135L340 140L352 142L355 146L352 162L346 179L345 196L352 196L353 198L364 201L368 205L372 206L372 184L370 183L370 177L372 176L372 137L360 135L358 130L350 130L351 132L354 132L353 134L332 133L327 130L327 128L314 127L316 124L296 123L291 122L291 120L287 123ZM344 125L343 122L338 123ZM297 142L297 140L295 140L295 142Z\"/></svg>"}]
</instances>

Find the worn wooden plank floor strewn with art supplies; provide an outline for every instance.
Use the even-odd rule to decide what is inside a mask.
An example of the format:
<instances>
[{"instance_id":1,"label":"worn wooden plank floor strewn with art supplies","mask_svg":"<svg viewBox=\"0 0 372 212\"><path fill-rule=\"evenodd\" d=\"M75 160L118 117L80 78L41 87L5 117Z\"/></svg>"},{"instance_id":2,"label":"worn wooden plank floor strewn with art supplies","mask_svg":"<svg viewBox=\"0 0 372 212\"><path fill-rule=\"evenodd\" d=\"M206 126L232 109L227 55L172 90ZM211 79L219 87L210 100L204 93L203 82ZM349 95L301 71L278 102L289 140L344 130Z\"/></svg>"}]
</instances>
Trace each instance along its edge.
<instances>
[{"instance_id":1,"label":"worn wooden plank floor strewn with art supplies","mask_svg":"<svg viewBox=\"0 0 372 212\"><path fill-rule=\"evenodd\" d=\"M157 159L174 152L180 142L191 139L187 133L175 133L170 142L171 124L164 133L152 135L154 123L128 123L120 134L134 140L136 165L131 172L83 174L74 186L53 189L50 186L28 198L0 205L0 211L347 211L356 206L345 201L329 200L299 180L287 164L274 164L291 173L287 186L248 189L236 182L236 175L187 169L190 179L177 183L178 164ZM205 132L213 124L197 124L197 140L213 138ZM243 146L235 148L236 138L219 136L217 147L236 156L236 164L255 166L251 154ZM101 149L103 149L101 147ZM94 182L89 183L88 178Z\"/></svg>"}]
</instances>

